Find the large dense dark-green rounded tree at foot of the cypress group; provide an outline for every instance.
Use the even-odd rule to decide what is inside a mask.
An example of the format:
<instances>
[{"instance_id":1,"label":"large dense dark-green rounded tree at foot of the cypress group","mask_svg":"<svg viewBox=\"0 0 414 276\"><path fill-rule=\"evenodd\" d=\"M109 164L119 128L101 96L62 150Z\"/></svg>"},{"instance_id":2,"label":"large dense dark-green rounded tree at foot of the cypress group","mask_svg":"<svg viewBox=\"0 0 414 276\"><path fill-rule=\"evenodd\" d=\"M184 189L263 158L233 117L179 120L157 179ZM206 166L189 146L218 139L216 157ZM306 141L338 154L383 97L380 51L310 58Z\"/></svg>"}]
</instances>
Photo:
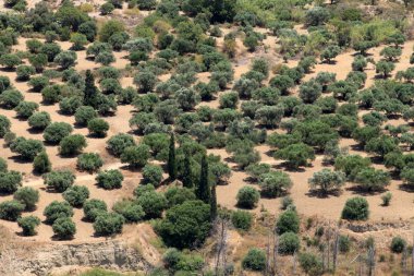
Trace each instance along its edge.
<instances>
[{"instance_id":1,"label":"large dense dark-green rounded tree at foot of the cypress group","mask_svg":"<svg viewBox=\"0 0 414 276\"><path fill-rule=\"evenodd\" d=\"M210 208L202 201L186 201L171 207L156 225L165 243L178 249L202 245L210 228Z\"/></svg>"}]
</instances>

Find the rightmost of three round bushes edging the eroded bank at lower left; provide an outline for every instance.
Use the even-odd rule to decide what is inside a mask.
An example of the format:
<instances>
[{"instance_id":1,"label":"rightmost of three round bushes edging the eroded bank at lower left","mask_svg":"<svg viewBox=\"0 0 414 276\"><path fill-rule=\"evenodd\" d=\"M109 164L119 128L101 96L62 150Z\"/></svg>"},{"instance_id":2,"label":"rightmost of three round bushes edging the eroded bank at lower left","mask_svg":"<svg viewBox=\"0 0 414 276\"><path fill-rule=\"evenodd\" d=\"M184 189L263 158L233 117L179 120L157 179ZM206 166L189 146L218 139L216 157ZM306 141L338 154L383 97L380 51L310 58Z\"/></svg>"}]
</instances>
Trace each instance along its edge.
<instances>
[{"instance_id":1,"label":"rightmost of three round bushes edging the eroded bank at lower left","mask_svg":"<svg viewBox=\"0 0 414 276\"><path fill-rule=\"evenodd\" d=\"M99 214L94 223L95 235L97 236L112 236L121 233L125 219L117 213L102 213Z\"/></svg>"}]
</instances>

